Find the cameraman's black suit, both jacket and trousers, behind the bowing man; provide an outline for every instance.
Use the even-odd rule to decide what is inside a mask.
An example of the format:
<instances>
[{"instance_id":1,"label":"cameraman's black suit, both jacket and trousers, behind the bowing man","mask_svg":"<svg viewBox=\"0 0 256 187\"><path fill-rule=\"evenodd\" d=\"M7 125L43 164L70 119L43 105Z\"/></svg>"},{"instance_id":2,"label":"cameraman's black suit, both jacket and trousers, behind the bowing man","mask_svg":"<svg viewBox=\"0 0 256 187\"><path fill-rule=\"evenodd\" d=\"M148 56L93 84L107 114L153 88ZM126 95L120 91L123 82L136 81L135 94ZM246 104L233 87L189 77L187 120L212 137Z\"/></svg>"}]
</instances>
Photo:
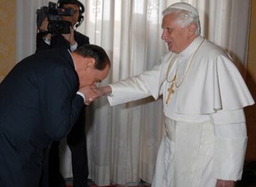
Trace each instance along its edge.
<instances>
[{"instance_id":1,"label":"cameraman's black suit, both jacket and trousers, behind the bowing man","mask_svg":"<svg viewBox=\"0 0 256 187\"><path fill-rule=\"evenodd\" d=\"M36 35L36 52L59 47L66 47L70 50L70 44L62 35L52 36L51 45L43 41L45 33L39 32ZM77 31L74 31L74 39L78 46L89 44L89 38ZM72 173L74 186L87 186L88 178L88 161L87 161L87 145L85 136L85 105L80 113L79 119L67 135L67 145L69 145L72 156ZM61 186L64 179L59 172L59 141L54 141L49 149L49 164L44 162L43 186ZM49 173L48 173L49 171ZM49 176L49 178L48 178ZM49 181L48 181L49 180ZM59 185L57 185L59 183Z\"/></svg>"}]
</instances>

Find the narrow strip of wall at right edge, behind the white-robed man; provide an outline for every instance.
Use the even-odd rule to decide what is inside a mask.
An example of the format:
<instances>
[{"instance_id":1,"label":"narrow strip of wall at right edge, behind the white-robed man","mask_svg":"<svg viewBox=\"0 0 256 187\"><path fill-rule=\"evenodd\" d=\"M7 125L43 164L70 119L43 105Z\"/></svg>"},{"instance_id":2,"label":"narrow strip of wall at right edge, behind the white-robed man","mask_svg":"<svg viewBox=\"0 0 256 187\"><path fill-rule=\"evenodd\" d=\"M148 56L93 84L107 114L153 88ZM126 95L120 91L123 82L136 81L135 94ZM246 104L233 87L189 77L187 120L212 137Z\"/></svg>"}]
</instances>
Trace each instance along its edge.
<instances>
[{"instance_id":1,"label":"narrow strip of wall at right edge, behind the white-robed man","mask_svg":"<svg viewBox=\"0 0 256 187\"><path fill-rule=\"evenodd\" d=\"M256 101L256 0L252 0L246 83ZM247 117L247 160L256 161L256 106L245 108Z\"/></svg>"}]
</instances>

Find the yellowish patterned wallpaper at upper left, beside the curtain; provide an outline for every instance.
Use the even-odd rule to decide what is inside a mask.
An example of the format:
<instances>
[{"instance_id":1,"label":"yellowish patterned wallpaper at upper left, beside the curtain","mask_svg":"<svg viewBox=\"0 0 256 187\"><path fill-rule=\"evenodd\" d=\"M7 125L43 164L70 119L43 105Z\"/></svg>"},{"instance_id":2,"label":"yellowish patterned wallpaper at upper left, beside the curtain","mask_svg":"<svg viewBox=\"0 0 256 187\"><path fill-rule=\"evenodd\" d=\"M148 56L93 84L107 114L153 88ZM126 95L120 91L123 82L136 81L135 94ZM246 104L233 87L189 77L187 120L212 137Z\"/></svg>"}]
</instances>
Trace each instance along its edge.
<instances>
[{"instance_id":1,"label":"yellowish patterned wallpaper at upper left, beside the curtain","mask_svg":"<svg viewBox=\"0 0 256 187\"><path fill-rule=\"evenodd\" d=\"M0 82L16 63L16 0L0 1Z\"/></svg>"}]
</instances>

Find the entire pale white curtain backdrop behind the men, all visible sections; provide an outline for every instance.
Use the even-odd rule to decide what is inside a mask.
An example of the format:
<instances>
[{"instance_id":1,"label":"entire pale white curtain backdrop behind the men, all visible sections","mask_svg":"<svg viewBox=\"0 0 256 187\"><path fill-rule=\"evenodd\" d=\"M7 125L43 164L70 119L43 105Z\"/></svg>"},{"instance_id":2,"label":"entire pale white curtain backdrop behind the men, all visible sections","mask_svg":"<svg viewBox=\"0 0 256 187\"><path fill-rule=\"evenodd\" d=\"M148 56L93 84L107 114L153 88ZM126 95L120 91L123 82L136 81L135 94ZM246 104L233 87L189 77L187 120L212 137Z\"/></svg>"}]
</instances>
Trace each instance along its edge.
<instances>
[{"instance_id":1,"label":"entire pale white curtain backdrop behind the men, all visible sections","mask_svg":"<svg viewBox=\"0 0 256 187\"><path fill-rule=\"evenodd\" d=\"M174 0L81 0L85 20L78 30L111 58L100 86L150 70L167 52L161 41L161 12ZM250 0L187 0L197 7L202 36L226 49L237 66L247 66ZM35 52L35 10L48 1L17 1L17 59ZM126 97L126 95L124 95ZM105 97L87 107L90 178L98 185L151 183L163 137L161 98L110 107ZM62 173L72 177L69 149L62 144Z\"/></svg>"}]
</instances>

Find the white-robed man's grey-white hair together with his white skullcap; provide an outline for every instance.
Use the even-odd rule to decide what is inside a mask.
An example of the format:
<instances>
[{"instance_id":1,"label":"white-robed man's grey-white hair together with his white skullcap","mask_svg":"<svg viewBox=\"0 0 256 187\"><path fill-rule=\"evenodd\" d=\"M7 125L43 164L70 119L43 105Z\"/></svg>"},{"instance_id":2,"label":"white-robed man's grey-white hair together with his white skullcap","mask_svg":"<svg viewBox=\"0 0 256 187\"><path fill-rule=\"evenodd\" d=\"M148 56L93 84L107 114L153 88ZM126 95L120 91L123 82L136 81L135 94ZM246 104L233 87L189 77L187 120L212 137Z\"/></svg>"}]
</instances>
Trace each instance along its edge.
<instances>
[{"instance_id":1,"label":"white-robed man's grey-white hair together with his white skullcap","mask_svg":"<svg viewBox=\"0 0 256 187\"><path fill-rule=\"evenodd\" d=\"M163 10L163 16L168 14L177 14L177 24L184 28L192 23L197 25L197 30L195 30L195 34L199 36L201 34L201 26L199 15L197 9L195 9L190 4L186 2L177 2L169 6L167 9Z\"/></svg>"}]
</instances>

